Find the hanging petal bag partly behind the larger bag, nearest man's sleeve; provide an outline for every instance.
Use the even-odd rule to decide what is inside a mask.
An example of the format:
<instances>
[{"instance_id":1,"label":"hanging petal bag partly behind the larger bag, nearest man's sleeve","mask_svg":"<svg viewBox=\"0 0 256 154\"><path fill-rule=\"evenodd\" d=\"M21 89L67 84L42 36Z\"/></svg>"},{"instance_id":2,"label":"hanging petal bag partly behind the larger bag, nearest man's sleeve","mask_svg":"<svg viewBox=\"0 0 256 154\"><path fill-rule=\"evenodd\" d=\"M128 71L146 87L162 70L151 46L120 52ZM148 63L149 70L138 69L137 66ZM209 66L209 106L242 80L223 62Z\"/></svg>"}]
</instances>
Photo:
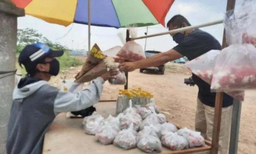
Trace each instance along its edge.
<instances>
[{"instance_id":1,"label":"hanging petal bag partly behind the larger bag, nearest man's sleeve","mask_svg":"<svg viewBox=\"0 0 256 154\"><path fill-rule=\"evenodd\" d=\"M185 67L189 69L193 74L211 84L213 79L213 71L216 64L216 59L220 55L220 50L210 50L205 54L187 62ZM244 100L244 91L225 91L230 96L238 100Z\"/></svg>"}]
</instances>

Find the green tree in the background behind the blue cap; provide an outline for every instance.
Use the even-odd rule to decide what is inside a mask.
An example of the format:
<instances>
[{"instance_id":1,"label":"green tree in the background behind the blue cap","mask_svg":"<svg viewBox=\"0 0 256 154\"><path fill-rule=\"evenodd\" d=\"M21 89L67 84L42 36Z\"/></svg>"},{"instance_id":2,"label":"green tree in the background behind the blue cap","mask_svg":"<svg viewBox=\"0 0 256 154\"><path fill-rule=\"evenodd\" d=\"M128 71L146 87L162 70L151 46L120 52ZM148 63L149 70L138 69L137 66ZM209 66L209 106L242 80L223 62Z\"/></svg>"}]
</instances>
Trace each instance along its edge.
<instances>
[{"instance_id":1,"label":"green tree in the background behind the blue cap","mask_svg":"<svg viewBox=\"0 0 256 154\"><path fill-rule=\"evenodd\" d=\"M38 30L33 28L18 29L17 31L17 53L28 44L42 42L55 50L68 50L67 47L58 42L53 42L44 37Z\"/></svg>"}]
</instances>

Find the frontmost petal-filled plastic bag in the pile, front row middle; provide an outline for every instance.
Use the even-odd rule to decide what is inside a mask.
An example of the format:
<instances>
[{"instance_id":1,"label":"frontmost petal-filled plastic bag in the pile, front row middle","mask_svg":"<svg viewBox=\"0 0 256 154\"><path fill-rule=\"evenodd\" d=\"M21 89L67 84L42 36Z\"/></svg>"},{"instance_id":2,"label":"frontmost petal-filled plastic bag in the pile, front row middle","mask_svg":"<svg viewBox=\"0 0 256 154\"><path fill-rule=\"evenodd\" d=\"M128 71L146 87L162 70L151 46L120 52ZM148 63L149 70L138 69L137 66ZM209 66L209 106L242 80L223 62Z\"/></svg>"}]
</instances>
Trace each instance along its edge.
<instances>
[{"instance_id":1,"label":"frontmost petal-filled plastic bag in the pile, front row middle","mask_svg":"<svg viewBox=\"0 0 256 154\"><path fill-rule=\"evenodd\" d=\"M158 153L162 151L162 143L157 134L155 131L152 131L152 129L146 127L143 133L138 133L137 147L148 153Z\"/></svg>"}]
</instances>

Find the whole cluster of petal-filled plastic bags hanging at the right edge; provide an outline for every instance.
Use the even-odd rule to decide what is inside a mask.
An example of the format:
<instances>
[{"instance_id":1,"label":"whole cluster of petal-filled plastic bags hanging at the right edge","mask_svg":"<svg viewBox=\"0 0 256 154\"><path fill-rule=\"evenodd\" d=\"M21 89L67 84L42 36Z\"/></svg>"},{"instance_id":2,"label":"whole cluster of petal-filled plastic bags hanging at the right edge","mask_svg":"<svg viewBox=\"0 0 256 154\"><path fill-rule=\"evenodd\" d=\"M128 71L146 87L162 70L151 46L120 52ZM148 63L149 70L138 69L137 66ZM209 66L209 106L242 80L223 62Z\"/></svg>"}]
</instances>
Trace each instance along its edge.
<instances>
[{"instance_id":1,"label":"whole cluster of petal-filled plastic bags hanging at the right edge","mask_svg":"<svg viewBox=\"0 0 256 154\"><path fill-rule=\"evenodd\" d=\"M188 62L186 67L211 89L244 100L244 90L256 89L256 3L244 1L236 11L225 13L228 47L211 50Z\"/></svg>"}]
</instances>

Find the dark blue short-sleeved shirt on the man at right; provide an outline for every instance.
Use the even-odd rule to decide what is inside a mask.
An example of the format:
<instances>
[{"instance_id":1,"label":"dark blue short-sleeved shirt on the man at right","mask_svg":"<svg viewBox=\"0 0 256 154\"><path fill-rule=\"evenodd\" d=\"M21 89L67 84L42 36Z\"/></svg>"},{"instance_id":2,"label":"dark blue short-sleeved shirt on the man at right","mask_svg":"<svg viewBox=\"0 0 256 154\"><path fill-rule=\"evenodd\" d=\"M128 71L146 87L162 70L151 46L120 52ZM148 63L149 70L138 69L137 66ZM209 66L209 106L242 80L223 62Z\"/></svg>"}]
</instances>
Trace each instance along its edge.
<instances>
[{"instance_id":1,"label":"dark blue short-sleeved shirt on the man at right","mask_svg":"<svg viewBox=\"0 0 256 154\"><path fill-rule=\"evenodd\" d=\"M222 46L211 34L203 30L195 29L188 36L185 36L184 40L173 49L183 56L186 56L189 60L192 60L210 50L221 50ZM192 74L192 79L198 86L199 100L205 105L214 107L216 93L211 92L210 85L195 74ZM224 93L223 107L228 107L232 104L233 98Z\"/></svg>"}]
</instances>

